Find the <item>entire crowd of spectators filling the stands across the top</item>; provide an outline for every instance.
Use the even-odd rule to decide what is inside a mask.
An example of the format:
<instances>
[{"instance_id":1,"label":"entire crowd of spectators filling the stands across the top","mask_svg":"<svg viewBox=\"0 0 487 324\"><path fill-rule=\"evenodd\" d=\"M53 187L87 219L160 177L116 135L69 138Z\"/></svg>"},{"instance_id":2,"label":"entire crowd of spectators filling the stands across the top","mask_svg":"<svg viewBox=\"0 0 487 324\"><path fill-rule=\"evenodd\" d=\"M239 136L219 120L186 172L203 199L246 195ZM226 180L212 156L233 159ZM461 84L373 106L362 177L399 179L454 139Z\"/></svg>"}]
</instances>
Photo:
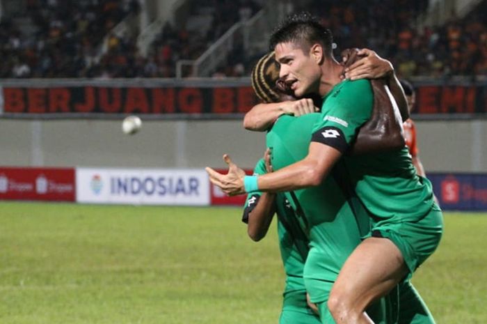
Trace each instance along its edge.
<instances>
[{"instance_id":1,"label":"entire crowd of spectators filling the stands across the top","mask_svg":"<svg viewBox=\"0 0 487 324\"><path fill-rule=\"evenodd\" d=\"M394 63L401 77L487 74L487 1L463 20L443 26L415 27L427 8L422 0L314 0L305 9L333 31L337 49L369 47ZM8 77L175 77L176 62L197 59L230 26L260 9L252 0L193 0L192 14L206 8L208 28L189 31L167 23L142 56L136 38L110 33L136 13L138 0L27 0L35 33L22 35L13 22L0 23L0 78ZM208 11L209 10L209 11ZM99 54L102 38L108 50ZM254 58L241 43L213 77L248 75Z\"/></svg>"}]
</instances>

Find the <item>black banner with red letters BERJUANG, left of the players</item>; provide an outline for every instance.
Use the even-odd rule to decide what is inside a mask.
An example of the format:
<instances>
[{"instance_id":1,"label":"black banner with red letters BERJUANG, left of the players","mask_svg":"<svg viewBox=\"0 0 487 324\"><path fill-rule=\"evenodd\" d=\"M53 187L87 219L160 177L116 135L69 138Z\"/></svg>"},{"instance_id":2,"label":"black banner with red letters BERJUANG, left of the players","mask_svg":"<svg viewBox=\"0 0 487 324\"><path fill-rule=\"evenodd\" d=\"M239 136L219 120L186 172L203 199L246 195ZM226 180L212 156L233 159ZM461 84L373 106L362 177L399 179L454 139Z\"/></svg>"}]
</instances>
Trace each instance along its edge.
<instances>
[{"instance_id":1,"label":"black banner with red letters BERJUANG, left of the players","mask_svg":"<svg viewBox=\"0 0 487 324\"><path fill-rule=\"evenodd\" d=\"M3 87L6 114L243 114L253 88Z\"/></svg>"}]
</instances>

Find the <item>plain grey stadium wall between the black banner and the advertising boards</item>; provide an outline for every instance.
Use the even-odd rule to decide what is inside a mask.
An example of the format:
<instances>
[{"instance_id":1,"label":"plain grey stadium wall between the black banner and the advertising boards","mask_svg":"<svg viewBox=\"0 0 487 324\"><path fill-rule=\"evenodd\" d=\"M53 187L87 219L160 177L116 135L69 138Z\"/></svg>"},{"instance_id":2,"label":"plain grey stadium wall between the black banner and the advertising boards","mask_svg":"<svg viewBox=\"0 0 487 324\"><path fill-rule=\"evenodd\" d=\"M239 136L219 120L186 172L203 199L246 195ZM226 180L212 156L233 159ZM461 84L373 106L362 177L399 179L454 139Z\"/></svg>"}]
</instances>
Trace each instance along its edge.
<instances>
[{"instance_id":1,"label":"plain grey stadium wall between the black banner and the advertising boards","mask_svg":"<svg viewBox=\"0 0 487 324\"><path fill-rule=\"evenodd\" d=\"M414 118L414 116L413 116ZM241 121L151 121L122 133L119 120L0 119L0 166L204 168L225 167L228 153L253 169L265 151L265 133ZM420 157L429 172L487 172L487 119L417 121Z\"/></svg>"}]
</instances>

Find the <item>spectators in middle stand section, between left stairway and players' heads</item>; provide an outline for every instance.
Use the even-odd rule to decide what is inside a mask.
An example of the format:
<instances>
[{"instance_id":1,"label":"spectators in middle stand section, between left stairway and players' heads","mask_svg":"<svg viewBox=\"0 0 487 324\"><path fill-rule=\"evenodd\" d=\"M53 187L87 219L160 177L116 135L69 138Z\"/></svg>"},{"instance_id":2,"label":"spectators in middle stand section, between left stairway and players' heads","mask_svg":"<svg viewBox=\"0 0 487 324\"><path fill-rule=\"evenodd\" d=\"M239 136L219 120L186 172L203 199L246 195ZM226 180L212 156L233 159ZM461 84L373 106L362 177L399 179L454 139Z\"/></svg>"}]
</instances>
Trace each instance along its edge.
<instances>
[{"instance_id":1,"label":"spectators in middle stand section, between left stairway and players' heads","mask_svg":"<svg viewBox=\"0 0 487 324\"><path fill-rule=\"evenodd\" d=\"M189 15L209 15L207 28L189 31L184 24L175 28L167 22L146 56L138 51L135 38L110 35L108 51L90 69L90 77L175 77L177 61L198 59L233 24L247 20L259 9L251 0L193 0ZM239 48L235 44L234 52ZM231 56L229 62L234 64L228 65L221 75L244 76L245 69L239 65L243 52ZM185 76L191 75L191 70L183 72Z\"/></svg>"}]
</instances>

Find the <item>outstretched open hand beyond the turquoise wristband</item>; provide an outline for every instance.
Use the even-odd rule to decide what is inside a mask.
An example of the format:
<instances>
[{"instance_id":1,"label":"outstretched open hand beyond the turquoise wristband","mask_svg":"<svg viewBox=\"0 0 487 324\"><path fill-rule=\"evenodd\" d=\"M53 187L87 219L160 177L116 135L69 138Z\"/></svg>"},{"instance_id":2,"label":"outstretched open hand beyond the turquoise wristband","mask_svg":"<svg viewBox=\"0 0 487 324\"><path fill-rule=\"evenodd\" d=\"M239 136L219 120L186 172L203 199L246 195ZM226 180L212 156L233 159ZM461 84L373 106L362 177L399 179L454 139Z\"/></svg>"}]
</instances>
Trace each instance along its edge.
<instances>
[{"instance_id":1,"label":"outstretched open hand beyond the turquoise wristband","mask_svg":"<svg viewBox=\"0 0 487 324\"><path fill-rule=\"evenodd\" d=\"M237 167L227 154L223 155L223 161L228 165L228 173L221 174L214 169L206 167L209 180L214 185L218 186L229 196L236 196L237 194L244 194L244 176L245 171Z\"/></svg>"}]
</instances>

